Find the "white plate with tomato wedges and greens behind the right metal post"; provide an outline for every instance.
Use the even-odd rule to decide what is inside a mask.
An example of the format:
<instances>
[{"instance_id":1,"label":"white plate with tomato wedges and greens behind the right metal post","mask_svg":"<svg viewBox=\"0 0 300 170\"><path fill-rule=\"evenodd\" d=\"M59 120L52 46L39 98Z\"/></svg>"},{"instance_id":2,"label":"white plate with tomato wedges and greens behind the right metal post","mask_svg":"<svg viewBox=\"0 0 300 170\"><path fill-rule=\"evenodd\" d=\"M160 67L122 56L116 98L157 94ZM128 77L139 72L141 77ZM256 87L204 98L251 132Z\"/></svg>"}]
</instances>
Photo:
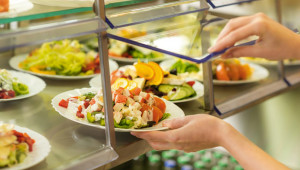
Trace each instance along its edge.
<instances>
[{"instance_id":1,"label":"white plate with tomato wedges and greens behind the right metal post","mask_svg":"<svg viewBox=\"0 0 300 170\"><path fill-rule=\"evenodd\" d=\"M203 80L202 67L199 64L172 59L161 62L160 66L182 79ZM212 71L215 85L254 83L269 76L269 71L266 68L238 59L216 59L212 61Z\"/></svg>"}]
</instances>

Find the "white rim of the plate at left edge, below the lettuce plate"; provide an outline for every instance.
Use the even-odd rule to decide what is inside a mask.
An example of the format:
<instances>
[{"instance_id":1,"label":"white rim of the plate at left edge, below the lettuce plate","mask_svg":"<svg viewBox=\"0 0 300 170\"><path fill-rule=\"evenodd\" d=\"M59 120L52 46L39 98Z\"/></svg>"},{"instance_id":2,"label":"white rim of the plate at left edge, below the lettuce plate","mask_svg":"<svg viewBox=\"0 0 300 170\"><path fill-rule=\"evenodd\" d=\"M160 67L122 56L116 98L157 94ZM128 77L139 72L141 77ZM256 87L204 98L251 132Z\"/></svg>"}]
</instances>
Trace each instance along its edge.
<instances>
[{"instance_id":1,"label":"white rim of the plate at left edge, below the lettuce plate","mask_svg":"<svg viewBox=\"0 0 300 170\"><path fill-rule=\"evenodd\" d=\"M19 74L19 75L23 74L23 75L29 76L29 77L31 77L33 79L36 79L37 81L39 81L41 83L40 84L41 89L40 89L40 91L37 91L36 93L32 93L32 94L30 94L30 91L29 91L28 94L21 95L21 96L16 96L16 97L11 98L11 99L0 99L0 102L15 101L15 100L21 100L21 99L26 99L26 98L29 98L29 97L33 97L33 96L39 94L40 92L42 92L43 90L45 90L45 88L47 86L46 83L45 83L45 81L43 79L41 79L41 78L39 78L39 77L37 77L35 75L24 73L24 72L20 72L20 71L15 71L15 70L7 70L7 71L10 72L10 73L13 73L13 74ZM21 83L24 83L24 82L21 82ZM24 84L26 84L26 83L24 83ZM32 87L32 88L34 88L34 87ZM30 89L32 89L32 88L30 88Z\"/></svg>"}]
</instances>

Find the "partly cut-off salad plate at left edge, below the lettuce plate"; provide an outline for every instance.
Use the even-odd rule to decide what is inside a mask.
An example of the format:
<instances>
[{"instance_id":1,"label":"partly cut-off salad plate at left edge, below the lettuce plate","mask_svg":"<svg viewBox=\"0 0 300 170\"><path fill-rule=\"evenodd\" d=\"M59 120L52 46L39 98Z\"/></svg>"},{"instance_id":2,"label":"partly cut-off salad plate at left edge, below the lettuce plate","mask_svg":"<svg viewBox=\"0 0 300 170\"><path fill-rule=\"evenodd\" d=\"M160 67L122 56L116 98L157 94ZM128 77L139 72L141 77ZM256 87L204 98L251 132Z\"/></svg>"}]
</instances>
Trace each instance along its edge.
<instances>
[{"instance_id":1,"label":"partly cut-off salad plate at left edge, below the lettuce plate","mask_svg":"<svg viewBox=\"0 0 300 170\"><path fill-rule=\"evenodd\" d=\"M0 69L0 102L34 96L46 87L46 83L33 75Z\"/></svg>"}]
</instances>

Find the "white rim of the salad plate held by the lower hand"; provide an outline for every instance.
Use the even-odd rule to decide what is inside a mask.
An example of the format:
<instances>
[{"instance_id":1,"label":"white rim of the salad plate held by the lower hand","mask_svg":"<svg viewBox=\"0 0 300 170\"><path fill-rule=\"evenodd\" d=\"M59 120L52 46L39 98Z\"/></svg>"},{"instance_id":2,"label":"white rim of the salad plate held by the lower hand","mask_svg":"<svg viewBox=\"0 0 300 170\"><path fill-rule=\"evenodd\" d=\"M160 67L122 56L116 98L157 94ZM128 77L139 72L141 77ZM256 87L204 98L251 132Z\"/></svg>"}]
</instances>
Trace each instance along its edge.
<instances>
[{"instance_id":1,"label":"white rim of the salad plate held by the lower hand","mask_svg":"<svg viewBox=\"0 0 300 170\"><path fill-rule=\"evenodd\" d=\"M57 109L58 108L58 103L56 103L55 100L60 99L60 97L62 97L63 95L67 95L68 93L75 92L75 91L79 91L80 92L80 91L84 91L84 90L87 90L87 91L90 91L90 90L97 91L97 90L100 90L100 88L90 87L90 88L73 89L73 90L62 92L62 93L60 93L60 94L58 94L58 95L56 95L55 97L52 98L51 105L52 105L52 107L54 108L54 110L56 112L58 112L61 116L63 116L64 118L66 118L66 119L68 119L70 121L73 121L73 122L76 122L76 123L79 123L79 124L82 124L82 125L86 125L86 126L95 127L95 128L99 128L99 129L105 130L105 126L101 126L101 125L97 125L97 124L92 124L92 123L89 123L89 122L84 122L84 121L82 121L80 119L70 118L67 115L65 115L64 113L61 113ZM176 110L178 110L178 112L180 112L180 116L178 116L178 117L184 117L185 116L184 111L179 106L177 106L176 104L174 104L174 103L172 103L170 101L166 101L165 99L163 99L163 100L166 102L166 105L168 104L168 105L170 105L170 107L176 108ZM165 120L169 120L169 119L167 118ZM163 120L163 121L165 121L165 120ZM163 121L161 121L160 123L162 123ZM147 131L167 130L168 128L167 127L159 127L157 129L147 129L147 128L142 128L142 129L114 128L114 129L115 129L115 132L147 132Z\"/></svg>"}]
</instances>

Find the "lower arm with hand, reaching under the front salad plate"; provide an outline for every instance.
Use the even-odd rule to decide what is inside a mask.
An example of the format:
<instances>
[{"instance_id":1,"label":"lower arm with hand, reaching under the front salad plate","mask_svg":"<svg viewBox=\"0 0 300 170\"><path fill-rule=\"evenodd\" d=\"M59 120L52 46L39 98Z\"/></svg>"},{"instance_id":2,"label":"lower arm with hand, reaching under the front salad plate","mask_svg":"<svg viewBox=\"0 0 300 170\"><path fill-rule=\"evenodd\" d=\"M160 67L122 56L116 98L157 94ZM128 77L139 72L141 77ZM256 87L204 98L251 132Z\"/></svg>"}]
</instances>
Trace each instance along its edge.
<instances>
[{"instance_id":1,"label":"lower arm with hand, reaching under the front salad plate","mask_svg":"<svg viewBox=\"0 0 300 170\"><path fill-rule=\"evenodd\" d=\"M147 140L156 150L178 149L186 152L222 146L247 170L288 169L216 117L198 114L165 121L168 131L132 132Z\"/></svg>"}]
</instances>

